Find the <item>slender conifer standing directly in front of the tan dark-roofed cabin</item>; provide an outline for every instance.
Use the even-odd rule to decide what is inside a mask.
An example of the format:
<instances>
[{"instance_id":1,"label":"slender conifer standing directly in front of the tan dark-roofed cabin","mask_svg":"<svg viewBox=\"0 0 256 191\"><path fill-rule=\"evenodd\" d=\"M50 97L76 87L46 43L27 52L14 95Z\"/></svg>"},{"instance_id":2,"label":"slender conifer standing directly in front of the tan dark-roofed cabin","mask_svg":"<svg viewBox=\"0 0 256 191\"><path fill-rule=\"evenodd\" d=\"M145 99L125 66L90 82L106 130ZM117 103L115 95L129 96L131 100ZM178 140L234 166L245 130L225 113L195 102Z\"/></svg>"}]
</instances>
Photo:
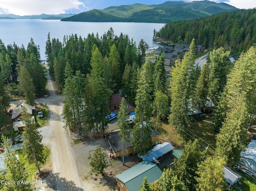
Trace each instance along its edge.
<instances>
[{"instance_id":1,"label":"slender conifer standing directly in front of the tan dark-roofed cabin","mask_svg":"<svg viewBox=\"0 0 256 191\"><path fill-rule=\"evenodd\" d=\"M126 146L130 142L130 131L129 131L129 120L128 120L128 109L126 104L126 99L123 97L120 109L118 112L118 128L120 129L120 136L121 136L121 143L122 143L122 158L123 158L123 165L124 165L124 157L126 155Z\"/></svg>"}]
</instances>

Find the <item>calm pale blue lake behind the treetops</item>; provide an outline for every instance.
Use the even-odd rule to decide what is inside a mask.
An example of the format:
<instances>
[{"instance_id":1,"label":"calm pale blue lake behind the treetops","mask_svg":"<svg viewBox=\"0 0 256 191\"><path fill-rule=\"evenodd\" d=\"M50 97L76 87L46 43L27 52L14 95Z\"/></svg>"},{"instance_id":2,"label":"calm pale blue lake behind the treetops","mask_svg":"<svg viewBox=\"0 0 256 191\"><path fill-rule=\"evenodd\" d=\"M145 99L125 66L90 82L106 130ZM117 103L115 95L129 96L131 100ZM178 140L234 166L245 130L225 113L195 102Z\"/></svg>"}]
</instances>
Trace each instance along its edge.
<instances>
[{"instance_id":1,"label":"calm pale blue lake behind the treetops","mask_svg":"<svg viewBox=\"0 0 256 191\"><path fill-rule=\"evenodd\" d=\"M60 20L40 20L40 19L0 19L0 39L4 45L13 44L21 47L23 44L27 48L30 39L40 47L41 59L45 59L45 45L47 35L50 32L50 38L58 38L62 41L64 35L77 34L83 39L89 33L98 32L102 36L110 27L113 28L115 35L127 34L130 39L138 43L144 39L150 47L157 47L159 43L152 40L153 31L162 28L164 24L159 23L122 23L122 22L63 22Z\"/></svg>"}]
</instances>

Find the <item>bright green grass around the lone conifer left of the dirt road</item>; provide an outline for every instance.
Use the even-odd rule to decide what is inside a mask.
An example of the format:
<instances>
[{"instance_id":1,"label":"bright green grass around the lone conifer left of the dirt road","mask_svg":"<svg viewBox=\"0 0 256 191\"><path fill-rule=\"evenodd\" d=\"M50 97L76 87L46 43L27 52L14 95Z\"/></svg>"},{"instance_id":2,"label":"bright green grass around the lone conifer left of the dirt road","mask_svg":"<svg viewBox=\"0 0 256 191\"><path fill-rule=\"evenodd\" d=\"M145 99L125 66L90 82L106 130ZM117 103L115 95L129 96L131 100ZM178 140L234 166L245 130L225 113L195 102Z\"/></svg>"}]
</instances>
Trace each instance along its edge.
<instances>
[{"instance_id":1,"label":"bright green grass around the lone conifer left of the dirt road","mask_svg":"<svg viewBox=\"0 0 256 191\"><path fill-rule=\"evenodd\" d=\"M50 149L48 147L44 147L44 156L46 158L46 163L44 165L49 165L50 163ZM23 156L22 150L17 150L16 154L19 156L19 161L24 164L24 167L28 173L28 181L33 181L32 176L37 171L37 167L35 163L28 163L28 160ZM39 167L42 168L43 165L39 163Z\"/></svg>"}]
</instances>

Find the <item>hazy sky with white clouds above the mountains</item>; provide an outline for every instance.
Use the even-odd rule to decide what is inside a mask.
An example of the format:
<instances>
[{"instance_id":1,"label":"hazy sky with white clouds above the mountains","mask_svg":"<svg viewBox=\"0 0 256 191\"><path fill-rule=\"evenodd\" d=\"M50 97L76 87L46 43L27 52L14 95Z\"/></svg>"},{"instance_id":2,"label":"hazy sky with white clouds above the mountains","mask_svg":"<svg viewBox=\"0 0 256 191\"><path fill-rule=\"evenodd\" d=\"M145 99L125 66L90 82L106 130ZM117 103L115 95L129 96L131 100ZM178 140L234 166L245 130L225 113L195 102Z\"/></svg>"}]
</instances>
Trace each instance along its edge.
<instances>
[{"instance_id":1,"label":"hazy sky with white clouds above the mountains","mask_svg":"<svg viewBox=\"0 0 256 191\"><path fill-rule=\"evenodd\" d=\"M104 9L134 3L161 4L168 0L0 0L0 14L35 15L80 13L92 9ZM184 0L191 2L192 0ZM236 8L255 8L255 0L212 0L225 2Z\"/></svg>"}]
</instances>

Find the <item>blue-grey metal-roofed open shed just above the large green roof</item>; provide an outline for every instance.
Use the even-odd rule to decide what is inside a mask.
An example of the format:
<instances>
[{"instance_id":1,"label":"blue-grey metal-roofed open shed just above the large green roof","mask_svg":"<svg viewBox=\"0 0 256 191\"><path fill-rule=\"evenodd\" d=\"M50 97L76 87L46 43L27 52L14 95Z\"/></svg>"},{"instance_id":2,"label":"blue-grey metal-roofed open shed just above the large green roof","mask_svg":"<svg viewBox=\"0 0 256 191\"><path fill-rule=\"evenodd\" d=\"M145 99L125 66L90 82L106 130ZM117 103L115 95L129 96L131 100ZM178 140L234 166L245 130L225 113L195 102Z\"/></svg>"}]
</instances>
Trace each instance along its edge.
<instances>
[{"instance_id":1,"label":"blue-grey metal-roofed open shed just above the large green roof","mask_svg":"<svg viewBox=\"0 0 256 191\"><path fill-rule=\"evenodd\" d=\"M152 162L155 159L162 157L164 154L171 152L173 149L174 148L172 144L170 144L169 142L164 142L162 144L154 146L152 150L148 151L148 154L139 157L142 158L144 161Z\"/></svg>"}]
</instances>

